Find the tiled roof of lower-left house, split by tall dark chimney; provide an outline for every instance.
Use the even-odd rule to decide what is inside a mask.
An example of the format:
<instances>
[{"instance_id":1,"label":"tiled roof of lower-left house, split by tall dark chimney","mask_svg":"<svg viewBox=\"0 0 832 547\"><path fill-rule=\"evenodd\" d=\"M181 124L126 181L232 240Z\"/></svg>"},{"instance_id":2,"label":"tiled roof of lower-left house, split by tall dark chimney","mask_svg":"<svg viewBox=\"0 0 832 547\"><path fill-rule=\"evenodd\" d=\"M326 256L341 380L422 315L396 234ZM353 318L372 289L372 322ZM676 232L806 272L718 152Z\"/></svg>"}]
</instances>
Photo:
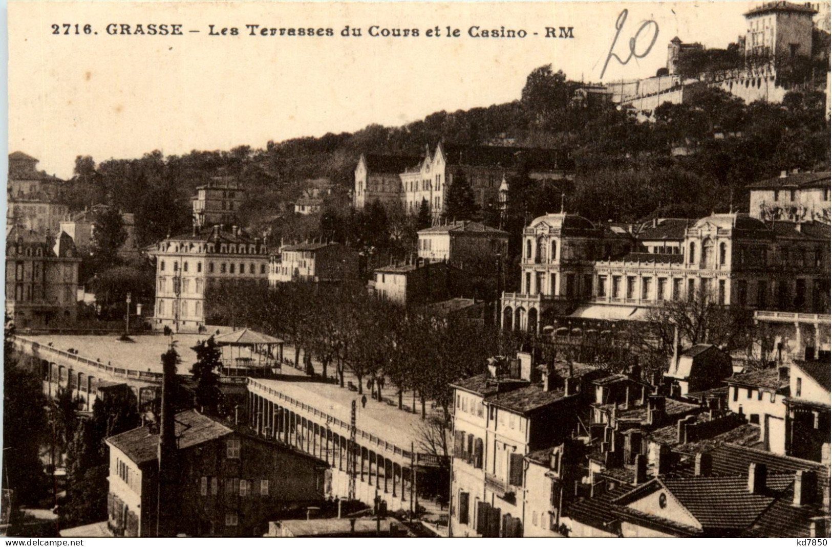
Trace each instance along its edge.
<instances>
[{"instance_id":1,"label":"tiled roof of lower-left house, split by tall dark chimney","mask_svg":"<svg viewBox=\"0 0 832 547\"><path fill-rule=\"evenodd\" d=\"M231 432L219 421L211 420L195 410L176 414L176 447L180 450L214 441ZM129 457L137 465L155 461L159 447L159 436L151 434L150 427L136 427L106 440Z\"/></svg>"}]
</instances>

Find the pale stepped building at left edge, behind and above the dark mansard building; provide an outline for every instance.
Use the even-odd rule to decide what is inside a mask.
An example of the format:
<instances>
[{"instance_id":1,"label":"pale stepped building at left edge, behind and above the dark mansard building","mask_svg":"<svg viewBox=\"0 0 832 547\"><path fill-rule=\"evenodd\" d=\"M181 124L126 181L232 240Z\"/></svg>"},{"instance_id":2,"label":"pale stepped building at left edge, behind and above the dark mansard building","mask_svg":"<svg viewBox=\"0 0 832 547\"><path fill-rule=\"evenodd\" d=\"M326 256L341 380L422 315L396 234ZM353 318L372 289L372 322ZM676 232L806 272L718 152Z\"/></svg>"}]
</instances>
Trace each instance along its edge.
<instances>
[{"instance_id":1,"label":"pale stepped building at left edge, behind and above the dark mansard building","mask_svg":"<svg viewBox=\"0 0 832 547\"><path fill-rule=\"evenodd\" d=\"M37 170L37 160L22 152L8 156L6 224L57 234L69 209L58 201L62 180Z\"/></svg>"}]
</instances>

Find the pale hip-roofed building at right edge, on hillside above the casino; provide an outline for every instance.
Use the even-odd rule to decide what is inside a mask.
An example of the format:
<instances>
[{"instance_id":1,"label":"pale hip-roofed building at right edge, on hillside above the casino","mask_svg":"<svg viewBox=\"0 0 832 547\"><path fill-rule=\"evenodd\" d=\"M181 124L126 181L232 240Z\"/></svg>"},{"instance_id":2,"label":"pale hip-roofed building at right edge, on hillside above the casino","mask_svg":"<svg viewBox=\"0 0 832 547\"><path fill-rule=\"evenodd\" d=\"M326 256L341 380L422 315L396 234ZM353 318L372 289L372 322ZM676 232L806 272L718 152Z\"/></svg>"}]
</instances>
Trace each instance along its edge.
<instances>
[{"instance_id":1,"label":"pale hip-roofed building at right edge, on hillside above the casino","mask_svg":"<svg viewBox=\"0 0 832 547\"><path fill-rule=\"evenodd\" d=\"M780 171L779 177L748 186L750 216L765 221L830 224L830 188L829 172Z\"/></svg>"}]
</instances>

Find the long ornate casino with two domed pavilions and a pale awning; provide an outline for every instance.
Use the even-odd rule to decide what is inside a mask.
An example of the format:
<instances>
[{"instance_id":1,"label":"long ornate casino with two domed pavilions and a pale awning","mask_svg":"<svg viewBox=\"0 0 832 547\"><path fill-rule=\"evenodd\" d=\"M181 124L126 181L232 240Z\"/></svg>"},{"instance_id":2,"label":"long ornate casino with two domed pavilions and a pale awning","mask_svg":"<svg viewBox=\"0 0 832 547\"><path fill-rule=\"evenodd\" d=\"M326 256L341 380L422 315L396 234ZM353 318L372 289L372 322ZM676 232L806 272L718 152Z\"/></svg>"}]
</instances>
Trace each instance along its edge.
<instances>
[{"instance_id":1,"label":"long ornate casino with two domed pavilions and a pale awning","mask_svg":"<svg viewBox=\"0 0 832 547\"><path fill-rule=\"evenodd\" d=\"M573 214L534 219L523 233L522 287L503 295L503 328L541 321L638 318L669 299L704 295L757 309L829 309L830 228L765 224L743 214L597 227Z\"/></svg>"}]
</instances>

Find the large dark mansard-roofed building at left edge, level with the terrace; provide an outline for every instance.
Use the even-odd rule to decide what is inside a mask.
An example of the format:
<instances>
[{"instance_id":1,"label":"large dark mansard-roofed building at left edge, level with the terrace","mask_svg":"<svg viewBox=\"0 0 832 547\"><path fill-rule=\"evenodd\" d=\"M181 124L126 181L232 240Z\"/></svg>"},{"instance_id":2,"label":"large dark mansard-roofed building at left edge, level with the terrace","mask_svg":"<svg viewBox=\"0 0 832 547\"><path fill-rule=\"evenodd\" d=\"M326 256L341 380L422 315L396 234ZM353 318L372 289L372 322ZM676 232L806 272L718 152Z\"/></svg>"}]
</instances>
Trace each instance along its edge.
<instances>
[{"instance_id":1,"label":"large dark mansard-roofed building at left edge, level with the terrace","mask_svg":"<svg viewBox=\"0 0 832 547\"><path fill-rule=\"evenodd\" d=\"M72 324L77 315L78 257L72 238L21 227L6 237L6 313L18 328Z\"/></svg>"}]
</instances>

